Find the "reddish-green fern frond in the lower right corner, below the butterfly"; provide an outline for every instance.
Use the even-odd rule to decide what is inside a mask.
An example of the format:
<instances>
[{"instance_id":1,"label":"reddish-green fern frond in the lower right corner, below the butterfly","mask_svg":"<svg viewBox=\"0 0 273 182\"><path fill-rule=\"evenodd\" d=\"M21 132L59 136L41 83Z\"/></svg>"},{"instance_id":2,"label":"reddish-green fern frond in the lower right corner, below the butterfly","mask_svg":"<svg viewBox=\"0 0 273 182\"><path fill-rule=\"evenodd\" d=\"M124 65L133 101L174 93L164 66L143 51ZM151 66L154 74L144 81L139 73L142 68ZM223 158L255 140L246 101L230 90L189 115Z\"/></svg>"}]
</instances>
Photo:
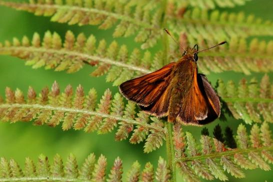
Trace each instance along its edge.
<instances>
[{"instance_id":1,"label":"reddish-green fern frond in the lower right corner, below the butterfly","mask_svg":"<svg viewBox=\"0 0 273 182\"><path fill-rule=\"evenodd\" d=\"M182 146L183 154L177 155L176 153L175 157L182 177L186 181L199 182L196 177L226 181L228 179L224 171L235 178L244 178L245 175L240 168L254 169L259 167L265 171L270 170L265 161L272 163L273 142L271 131L266 122L263 122L260 128L254 124L250 135L247 134L246 128L240 124L236 135L238 144L236 149L228 148L219 140L205 135L201 136L200 144L197 144L191 133L185 132L183 134L177 125L174 125L173 128L174 142L177 141L175 138L183 135L185 135L186 142L183 145L178 145ZM266 155L264 155L265 153Z\"/></svg>"}]
</instances>

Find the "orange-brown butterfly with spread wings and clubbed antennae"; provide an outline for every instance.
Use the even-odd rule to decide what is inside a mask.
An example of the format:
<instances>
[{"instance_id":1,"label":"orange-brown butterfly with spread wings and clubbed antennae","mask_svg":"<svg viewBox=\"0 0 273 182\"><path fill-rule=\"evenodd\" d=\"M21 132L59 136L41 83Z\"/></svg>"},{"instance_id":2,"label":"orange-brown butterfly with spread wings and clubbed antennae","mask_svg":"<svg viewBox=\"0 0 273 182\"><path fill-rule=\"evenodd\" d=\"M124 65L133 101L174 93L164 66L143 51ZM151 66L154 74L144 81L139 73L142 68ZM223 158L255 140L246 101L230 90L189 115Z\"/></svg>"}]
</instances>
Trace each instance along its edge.
<instances>
[{"instance_id":1,"label":"orange-brown butterfly with spread wings and clubbed antennae","mask_svg":"<svg viewBox=\"0 0 273 182\"><path fill-rule=\"evenodd\" d=\"M212 122L220 115L220 102L205 75L197 71L197 53L204 50L198 51L197 44L187 47L177 62L128 80L119 86L119 91L145 113L167 117L168 122L197 126Z\"/></svg>"}]
</instances>

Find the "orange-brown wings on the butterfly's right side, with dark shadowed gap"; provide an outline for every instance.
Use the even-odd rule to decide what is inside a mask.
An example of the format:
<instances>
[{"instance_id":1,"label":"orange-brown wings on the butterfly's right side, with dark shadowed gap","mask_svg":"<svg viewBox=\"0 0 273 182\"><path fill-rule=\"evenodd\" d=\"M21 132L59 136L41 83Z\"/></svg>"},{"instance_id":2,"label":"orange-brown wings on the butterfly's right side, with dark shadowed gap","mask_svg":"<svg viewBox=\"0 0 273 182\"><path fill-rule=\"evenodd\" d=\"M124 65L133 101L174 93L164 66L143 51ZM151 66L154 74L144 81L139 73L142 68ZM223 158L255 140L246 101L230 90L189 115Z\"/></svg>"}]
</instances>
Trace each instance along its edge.
<instances>
[{"instance_id":1,"label":"orange-brown wings on the butterfly's right side, with dark shadowed gap","mask_svg":"<svg viewBox=\"0 0 273 182\"><path fill-rule=\"evenodd\" d=\"M202 74L194 73L193 85L182 99L177 120L184 124L207 124L220 114L220 102L216 92Z\"/></svg>"}]
</instances>

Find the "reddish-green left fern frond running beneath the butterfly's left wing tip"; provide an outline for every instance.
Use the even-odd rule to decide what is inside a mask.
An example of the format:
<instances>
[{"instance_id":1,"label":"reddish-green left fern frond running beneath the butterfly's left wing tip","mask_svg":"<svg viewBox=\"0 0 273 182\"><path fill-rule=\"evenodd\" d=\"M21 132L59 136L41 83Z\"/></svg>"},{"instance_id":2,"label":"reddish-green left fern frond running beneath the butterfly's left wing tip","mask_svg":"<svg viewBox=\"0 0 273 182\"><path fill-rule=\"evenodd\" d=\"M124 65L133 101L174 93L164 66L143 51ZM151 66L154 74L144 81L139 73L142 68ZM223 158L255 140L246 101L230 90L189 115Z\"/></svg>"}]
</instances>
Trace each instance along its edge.
<instances>
[{"instance_id":1,"label":"reddish-green left fern frond running beneath the butterfly's left wing tip","mask_svg":"<svg viewBox=\"0 0 273 182\"><path fill-rule=\"evenodd\" d=\"M124 108L119 93L112 99L107 89L96 105L96 91L93 88L87 96L84 96L81 85L76 88L74 95L72 92L72 87L68 85L64 93L60 93L58 84L54 82L50 91L44 88L37 97L33 88L29 87L25 100L19 89L13 92L7 87L5 102L0 102L0 120L34 121L35 125L47 124L53 127L61 123L63 130L83 129L85 132L97 131L99 134L111 132L118 126L116 140L124 140L132 133L129 142L136 144L145 141L146 153L163 145L166 134L163 122L149 118L142 112L135 116L135 104L128 102Z\"/></svg>"}]
</instances>

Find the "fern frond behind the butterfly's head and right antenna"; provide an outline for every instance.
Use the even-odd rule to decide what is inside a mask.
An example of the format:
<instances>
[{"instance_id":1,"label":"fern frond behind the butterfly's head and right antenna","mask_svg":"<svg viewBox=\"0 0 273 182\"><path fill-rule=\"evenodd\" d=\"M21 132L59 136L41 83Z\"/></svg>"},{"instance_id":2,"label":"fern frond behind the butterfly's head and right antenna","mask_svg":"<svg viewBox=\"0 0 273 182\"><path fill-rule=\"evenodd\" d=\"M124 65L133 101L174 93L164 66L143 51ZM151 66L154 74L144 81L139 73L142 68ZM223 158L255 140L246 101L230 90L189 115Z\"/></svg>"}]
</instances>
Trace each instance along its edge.
<instances>
[{"instance_id":1,"label":"fern frond behind the butterfly's head and right antenna","mask_svg":"<svg viewBox=\"0 0 273 182\"><path fill-rule=\"evenodd\" d=\"M210 47L220 40L205 40L198 37L190 39L190 32L180 35L181 44L192 47L198 44L201 49ZM179 47L170 42L170 62L181 57ZM251 72L272 72L273 71L273 41L258 41L257 38L250 40L249 44L244 38L232 37L227 44L198 54L198 70L204 74L210 72L235 71L246 75Z\"/></svg>"}]
</instances>

